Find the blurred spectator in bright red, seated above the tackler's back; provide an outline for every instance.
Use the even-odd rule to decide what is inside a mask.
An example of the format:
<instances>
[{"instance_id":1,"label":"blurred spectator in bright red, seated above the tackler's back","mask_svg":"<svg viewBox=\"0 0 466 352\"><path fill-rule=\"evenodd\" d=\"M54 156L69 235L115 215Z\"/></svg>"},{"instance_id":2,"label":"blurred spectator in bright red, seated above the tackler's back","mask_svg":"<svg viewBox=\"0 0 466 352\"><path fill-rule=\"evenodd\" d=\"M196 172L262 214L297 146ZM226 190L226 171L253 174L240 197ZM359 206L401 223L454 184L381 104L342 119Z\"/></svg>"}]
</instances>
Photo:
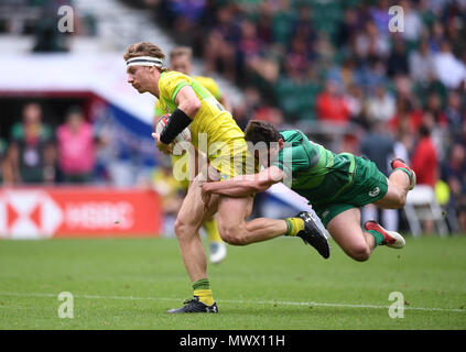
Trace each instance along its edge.
<instances>
[{"instance_id":1,"label":"blurred spectator in bright red, seated above the tackler's back","mask_svg":"<svg viewBox=\"0 0 466 352\"><path fill-rule=\"evenodd\" d=\"M349 121L349 108L340 94L338 84L327 80L316 100L316 116L321 122L346 124Z\"/></svg>"}]
</instances>

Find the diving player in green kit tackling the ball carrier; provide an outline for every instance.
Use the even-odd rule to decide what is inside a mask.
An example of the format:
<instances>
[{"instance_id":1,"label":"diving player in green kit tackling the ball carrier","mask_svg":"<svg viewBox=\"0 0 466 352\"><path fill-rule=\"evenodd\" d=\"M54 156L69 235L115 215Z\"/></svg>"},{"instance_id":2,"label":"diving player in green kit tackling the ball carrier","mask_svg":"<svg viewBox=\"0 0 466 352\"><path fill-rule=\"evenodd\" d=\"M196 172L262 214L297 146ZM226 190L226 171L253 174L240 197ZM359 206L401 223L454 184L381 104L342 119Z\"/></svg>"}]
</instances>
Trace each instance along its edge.
<instances>
[{"instance_id":1,"label":"diving player in green kit tackling the ball carrier","mask_svg":"<svg viewBox=\"0 0 466 352\"><path fill-rule=\"evenodd\" d=\"M204 201L213 194L241 197L283 182L308 200L335 242L354 260L367 261L377 245L404 246L401 234L373 220L361 228L359 209L368 204L383 209L404 206L408 191L415 186L415 174L402 160L391 162L393 172L387 178L371 161L335 154L299 130L279 132L269 122L251 120L245 136L264 168L256 175L205 183ZM265 147L257 148L259 144ZM267 219L263 221L267 226Z\"/></svg>"}]
</instances>

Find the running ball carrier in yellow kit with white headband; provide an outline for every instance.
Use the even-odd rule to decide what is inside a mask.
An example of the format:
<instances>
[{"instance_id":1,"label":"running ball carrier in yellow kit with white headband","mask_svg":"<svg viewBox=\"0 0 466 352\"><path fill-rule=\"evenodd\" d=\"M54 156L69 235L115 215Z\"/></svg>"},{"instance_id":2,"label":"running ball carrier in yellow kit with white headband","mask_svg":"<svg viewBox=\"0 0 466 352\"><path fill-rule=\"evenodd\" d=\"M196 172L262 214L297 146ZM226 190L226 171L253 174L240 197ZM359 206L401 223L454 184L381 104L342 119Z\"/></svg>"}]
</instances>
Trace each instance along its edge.
<instances>
[{"instance_id":1,"label":"running ball carrier in yellow kit with white headband","mask_svg":"<svg viewBox=\"0 0 466 352\"><path fill-rule=\"evenodd\" d=\"M163 65L165 55L152 43L131 44L124 55L128 82L140 94L150 92L160 100L161 109L171 118L159 135L152 133L158 148L172 153L173 140L185 128L192 135L191 161L207 157L206 166L191 182L175 222L175 233L186 271L193 283L194 297L169 312L218 312L207 278L207 261L199 232L203 221L217 212L221 239L235 245L246 245L291 235L313 245L328 257L328 242L310 215L303 212L286 219L254 219L245 223L251 212L253 196L229 197L213 195L207 205L202 197L206 179L227 179L257 169L249 163L245 134L214 96L199 82L182 73L170 72ZM191 165L197 165L191 162ZM254 164L252 162L252 164ZM249 165L249 166L248 166ZM252 169L248 169L252 168ZM324 253L324 254L323 254Z\"/></svg>"}]
</instances>

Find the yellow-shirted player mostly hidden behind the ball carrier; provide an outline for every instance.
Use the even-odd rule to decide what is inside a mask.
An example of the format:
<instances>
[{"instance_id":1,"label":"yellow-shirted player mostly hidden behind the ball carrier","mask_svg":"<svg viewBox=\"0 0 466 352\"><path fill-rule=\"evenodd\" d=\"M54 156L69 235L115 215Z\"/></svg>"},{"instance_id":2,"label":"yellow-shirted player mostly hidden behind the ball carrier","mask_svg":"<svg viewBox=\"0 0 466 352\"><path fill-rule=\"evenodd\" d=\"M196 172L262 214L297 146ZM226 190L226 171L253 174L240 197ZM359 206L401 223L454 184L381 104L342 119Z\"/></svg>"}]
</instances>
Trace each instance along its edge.
<instances>
[{"instance_id":1,"label":"yellow-shirted player mostly hidden behind the ball carrier","mask_svg":"<svg viewBox=\"0 0 466 352\"><path fill-rule=\"evenodd\" d=\"M177 46L170 52L170 69L185 75L191 75L191 72L193 70L192 59L193 51L191 47ZM229 110L227 99L221 95L220 88L214 79L203 76L193 76L193 78L195 78L201 85L207 88L207 90L210 91L210 94L226 108L226 110ZM159 121L159 118L165 113L166 112L161 109L160 100L158 100L155 103L154 125ZM172 165L181 161L181 158L185 157L186 155L172 155ZM180 167L174 168L173 170L175 172L176 169L180 169ZM184 174L186 170L183 169L181 172ZM180 179L181 177L177 178ZM188 179L182 180L181 184L186 191L187 186L189 185ZM227 256L227 246L221 241L220 234L218 233L217 221L215 220L215 217L206 219L203 223L203 227L206 231L207 240L209 242L209 260L214 264L220 263Z\"/></svg>"}]
</instances>

